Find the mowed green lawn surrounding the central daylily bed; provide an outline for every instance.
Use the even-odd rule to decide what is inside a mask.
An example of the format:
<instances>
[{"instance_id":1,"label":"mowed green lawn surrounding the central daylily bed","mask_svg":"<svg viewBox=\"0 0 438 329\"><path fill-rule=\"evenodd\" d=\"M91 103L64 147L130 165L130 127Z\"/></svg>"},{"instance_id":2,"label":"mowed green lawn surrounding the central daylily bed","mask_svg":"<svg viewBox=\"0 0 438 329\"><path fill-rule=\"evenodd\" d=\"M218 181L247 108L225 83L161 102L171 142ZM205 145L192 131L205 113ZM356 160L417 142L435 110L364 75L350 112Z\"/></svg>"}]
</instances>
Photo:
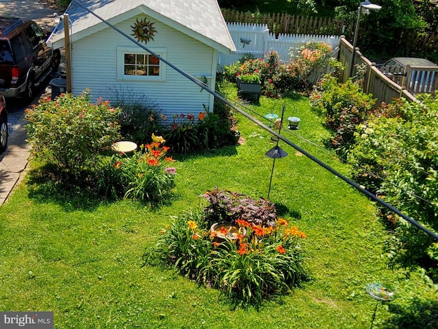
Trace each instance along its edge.
<instances>
[{"instance_id":1,"label":"mowed green lawn surrounding the central daylily bed","mask_svg":"<svg viewBox=\"0 0 438 329\"><path fill-rule=\"evenodd\" d=\"M307 99L262 97L248 110L281 114L283 104L285 118L302 119L297 131L283 127L283 136L347 174L345 164L320 148L328 133ZM144 249L160 228L202 207L206 190L268 196L272 159L264 154L275 144L268 132L236 117L244 142L179 156L176 197L161 208L21 184L0 207L0 310L51 310L55 328L370 328L375 301L365 284L391 284L398 295L391 303L436 299L419 273L408 278L387 267L387 232L372 202L283 142L289 156L275 162L270 199L307 233L309 282L258 310L233 309L215 289L172 269L143 267ZM380 306L374 328L394 316Z\"/></svg>"}]
</instances>

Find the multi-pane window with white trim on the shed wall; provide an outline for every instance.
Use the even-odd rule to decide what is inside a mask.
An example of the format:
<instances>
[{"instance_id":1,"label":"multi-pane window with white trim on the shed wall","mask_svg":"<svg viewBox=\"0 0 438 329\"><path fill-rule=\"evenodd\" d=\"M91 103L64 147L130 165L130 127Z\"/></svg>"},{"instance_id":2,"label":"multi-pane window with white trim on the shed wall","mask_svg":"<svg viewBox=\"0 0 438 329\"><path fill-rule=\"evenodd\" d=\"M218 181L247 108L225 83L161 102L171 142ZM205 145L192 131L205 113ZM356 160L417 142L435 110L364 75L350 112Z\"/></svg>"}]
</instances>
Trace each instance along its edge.
<instances>
[{"instance_id":1,"label":"multi-pane window with white trim on the shed wall","mask_svg":"<svg viewBox=\"0 0 438 329\"><path fill-rule=\"evenodd\" d=\"M166 58L166 49L151 49ZM138 47L117 48L117 77L121 80L165 80L166 64Z\"/></svg>"}]
</instances>

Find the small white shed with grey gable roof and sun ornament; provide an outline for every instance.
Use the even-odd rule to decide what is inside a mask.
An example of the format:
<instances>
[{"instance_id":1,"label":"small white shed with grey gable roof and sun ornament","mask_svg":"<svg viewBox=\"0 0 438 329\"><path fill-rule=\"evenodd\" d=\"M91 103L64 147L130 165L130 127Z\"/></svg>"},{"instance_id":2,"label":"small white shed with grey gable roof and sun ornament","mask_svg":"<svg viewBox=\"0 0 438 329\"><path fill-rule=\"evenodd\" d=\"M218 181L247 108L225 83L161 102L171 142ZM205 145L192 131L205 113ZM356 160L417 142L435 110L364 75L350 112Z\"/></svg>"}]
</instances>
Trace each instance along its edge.
<instances>
[{"instance_id":1,"label":"small white shed with grey gable roof and sun ornament","mask_svg":"<svg viewBox=\"0 0 438 329\"><path fill-rule=\"evenodd\" d=\"M179 69L207 80L214 89L219 52L235 45L216 0L86 0L97 16L125 34L146 26L149 50ZM123 34L72 1L70 19L72 93L86 88L92 98L112 99L114 89L146 95L165 114L194 114L213 108L214 96L151 56ZM140 23L139 23L140 22ZM143 23L143 24L142 24ZM64 23L57 25L49 43L64 47ZM144 42L142 42L143 45Z\"/></svg>"}]
</instances>

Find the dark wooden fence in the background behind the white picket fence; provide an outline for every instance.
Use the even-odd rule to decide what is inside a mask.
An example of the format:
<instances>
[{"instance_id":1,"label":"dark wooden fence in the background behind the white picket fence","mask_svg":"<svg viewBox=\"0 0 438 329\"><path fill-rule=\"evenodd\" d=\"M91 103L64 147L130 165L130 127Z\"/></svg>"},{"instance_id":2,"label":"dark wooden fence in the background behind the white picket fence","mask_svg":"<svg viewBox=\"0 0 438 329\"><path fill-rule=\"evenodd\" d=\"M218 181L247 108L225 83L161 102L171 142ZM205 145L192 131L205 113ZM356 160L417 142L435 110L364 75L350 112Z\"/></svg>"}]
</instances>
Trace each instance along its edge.
<instances>
[{"instance_id":1,"label":"dark wooden fence in the background behind the white picket fence","mask_svg":"<svg viewBox=\"0 0 438 329\"><path fill-rule=\"evenodd\" d=\"M352 32L352 23L327 17L295 16L286 13L260 14L222 9L227 23L266 24L276 34L321 34L340 36Z\"/></svg>"}]
</instances>

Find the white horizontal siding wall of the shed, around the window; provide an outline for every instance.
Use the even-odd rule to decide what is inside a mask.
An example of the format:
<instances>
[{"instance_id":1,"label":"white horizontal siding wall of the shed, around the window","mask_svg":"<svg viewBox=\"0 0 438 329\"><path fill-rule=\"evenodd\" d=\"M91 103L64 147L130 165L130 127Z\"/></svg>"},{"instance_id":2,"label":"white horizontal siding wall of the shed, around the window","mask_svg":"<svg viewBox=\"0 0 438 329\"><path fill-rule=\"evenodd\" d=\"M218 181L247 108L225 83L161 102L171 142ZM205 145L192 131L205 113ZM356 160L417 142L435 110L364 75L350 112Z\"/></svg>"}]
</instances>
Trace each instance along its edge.
<instances>
[{"instance_id":1,"label":"white horizontal siding wall of the shed, around the window","mask_svg":"<svg viewBox=\"0 0 438 329\"><path fill-rule=\"evenodd\" d=\"M136 17L133 17L116 26L130 35L130 25L135 21ZM146 47L151 50L166 48L169 62L198 79L207 77L207 84L211 86L216 77L217 51L168 25L155 22L154 27L157 33ZM136 45L110 27L73 43L73 94L78 95L89 88L94 101L98 97L111 99L110 88L121 87L146 95L168 115L192 112L196 116L203 112L203 104L212 110L214 97L205 90L201 92L201 87L169 66L165 81L117 80L117 47ZM142 51L140 47L138 49Z\"/></svg>"}]
</instances>

